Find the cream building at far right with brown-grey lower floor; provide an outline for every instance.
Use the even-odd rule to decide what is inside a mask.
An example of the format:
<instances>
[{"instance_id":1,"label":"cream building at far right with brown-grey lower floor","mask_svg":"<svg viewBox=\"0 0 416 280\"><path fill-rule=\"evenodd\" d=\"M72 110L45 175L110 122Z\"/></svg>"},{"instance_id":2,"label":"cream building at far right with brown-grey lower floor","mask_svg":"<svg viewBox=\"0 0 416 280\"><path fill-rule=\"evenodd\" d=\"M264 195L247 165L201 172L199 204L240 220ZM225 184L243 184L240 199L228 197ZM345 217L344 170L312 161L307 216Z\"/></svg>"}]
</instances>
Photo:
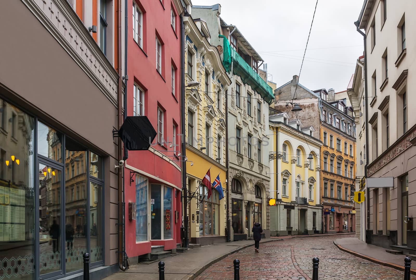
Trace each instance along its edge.
<instances>
[{"instance_id":1,"label":"cream building at far right with brown-grey lower floor","mask_svg":"<svg viewBox=\"0 0 416 280\"><path fill-rule=\"evenodd\" d=\"M366 0L356 23L366 34L366 242L385 248L401 245L402 251L412 254L416 247L415 10L415 1ZM379 177L385 179L371 182Z\"/></svg>"}]
</instances>

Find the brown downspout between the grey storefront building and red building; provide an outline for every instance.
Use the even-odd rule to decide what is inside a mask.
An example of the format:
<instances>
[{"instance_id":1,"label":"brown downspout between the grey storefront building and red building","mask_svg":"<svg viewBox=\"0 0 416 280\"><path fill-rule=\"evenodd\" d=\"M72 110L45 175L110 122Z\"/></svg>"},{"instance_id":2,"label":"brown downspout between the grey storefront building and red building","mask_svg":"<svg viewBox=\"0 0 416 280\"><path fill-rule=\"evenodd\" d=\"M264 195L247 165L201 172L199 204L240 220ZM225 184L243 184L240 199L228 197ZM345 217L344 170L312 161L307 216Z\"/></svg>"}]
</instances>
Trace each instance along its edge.
<instances>
[{"instance_id":1,"label":"brown downspout between the grey storefront building and red building","mask_svg":"<svg viewBox=\"0 0 416 280\"><path fill-rule=\"evenodd\" d=\"M117 0L117 74L119 75L118 84L117 84L117 129L121 128L122 124L122 110L121 110L121 0ZM122 150L122 143L121 138L117 138L117 161L120 162L123 156ZM118 241L119 241L119 248L118 248L118 258L119 258L119 268L122 271L125 271L126 268L123 265L123 256L124 256L124 248L123 248L123 239L124 239L124 232L123 232L123 177L122 177L122 168L117 168L117 196L118 196Z\"/></svg>"}]
</instances>

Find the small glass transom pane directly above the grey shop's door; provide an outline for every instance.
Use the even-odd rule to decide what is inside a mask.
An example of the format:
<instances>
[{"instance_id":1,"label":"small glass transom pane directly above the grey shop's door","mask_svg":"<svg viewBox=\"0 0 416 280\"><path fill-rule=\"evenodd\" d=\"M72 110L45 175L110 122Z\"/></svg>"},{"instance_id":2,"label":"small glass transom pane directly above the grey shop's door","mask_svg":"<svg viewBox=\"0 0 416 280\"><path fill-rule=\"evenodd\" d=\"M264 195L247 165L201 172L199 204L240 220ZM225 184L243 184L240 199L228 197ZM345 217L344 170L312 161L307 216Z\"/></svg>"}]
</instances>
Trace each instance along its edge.
<instances>
[{"instance_id":1,"label":"small glass transom pane directly above the grey shop's door","mask_svg":"<svg viewBox=\"0 0 416 280\"><path fill-rule=\"evenodd\" d=\"M62 133L37 122L37 153L51 160L62 162Z\"/></svg>"}]
</instances>

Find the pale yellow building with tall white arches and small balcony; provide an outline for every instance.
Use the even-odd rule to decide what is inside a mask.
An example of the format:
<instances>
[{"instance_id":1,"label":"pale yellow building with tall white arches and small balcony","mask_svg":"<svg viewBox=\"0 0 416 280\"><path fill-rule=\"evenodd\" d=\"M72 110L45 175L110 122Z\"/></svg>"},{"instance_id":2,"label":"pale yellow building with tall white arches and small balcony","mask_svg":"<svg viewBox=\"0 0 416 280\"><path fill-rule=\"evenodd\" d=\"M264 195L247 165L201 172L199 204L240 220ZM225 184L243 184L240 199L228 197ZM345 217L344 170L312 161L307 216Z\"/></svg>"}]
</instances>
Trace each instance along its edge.
<instances>
[{"instance_id":1,"label":"pale yellow building with tall white arches and small balcony","mask_svg":"<svg viewBox=\"0 0 416 280\"><path fill-rule=\"evenodd\" d=\"M270 206L272 236L313 234L322 231L320 205L320 147L315 129L303 127L287 113L270 109ZM274 201L271 201L274 204Z\"/></svg>"}]
</instances>

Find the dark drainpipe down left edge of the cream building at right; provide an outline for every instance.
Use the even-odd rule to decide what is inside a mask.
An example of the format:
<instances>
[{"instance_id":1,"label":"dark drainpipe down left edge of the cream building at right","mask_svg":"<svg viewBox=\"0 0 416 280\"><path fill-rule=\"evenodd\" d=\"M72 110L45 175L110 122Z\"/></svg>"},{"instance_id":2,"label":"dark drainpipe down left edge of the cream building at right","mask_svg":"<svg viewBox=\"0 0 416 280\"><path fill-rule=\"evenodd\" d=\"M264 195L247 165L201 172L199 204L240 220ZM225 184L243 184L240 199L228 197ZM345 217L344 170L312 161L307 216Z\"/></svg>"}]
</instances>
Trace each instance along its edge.
<instances>
[{"instance_id":1,"label":"dark drainpipe down left edge of the cream building at right","mask_svg":"<svg viewBox=\"0 0 416 280\"><path fill-rule=\"evenodd\" d=\"M364 105L365 105L365 145L366 145L366 163L364 165L364 178L367 178L367 167L369 161L369 139L368 139L368 86L367 86L367 37L364 32L359 29L359 20L354 22L354 25L357 27L357 32L361 34L364 38ZM369 188L367 190L367 199L370 198ZM370 228L370 203L366 202L367 206L367 227L366 230ZM366 240L367 241L367 240Z\"/></svg>"}]
</instances>

